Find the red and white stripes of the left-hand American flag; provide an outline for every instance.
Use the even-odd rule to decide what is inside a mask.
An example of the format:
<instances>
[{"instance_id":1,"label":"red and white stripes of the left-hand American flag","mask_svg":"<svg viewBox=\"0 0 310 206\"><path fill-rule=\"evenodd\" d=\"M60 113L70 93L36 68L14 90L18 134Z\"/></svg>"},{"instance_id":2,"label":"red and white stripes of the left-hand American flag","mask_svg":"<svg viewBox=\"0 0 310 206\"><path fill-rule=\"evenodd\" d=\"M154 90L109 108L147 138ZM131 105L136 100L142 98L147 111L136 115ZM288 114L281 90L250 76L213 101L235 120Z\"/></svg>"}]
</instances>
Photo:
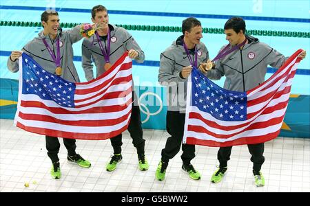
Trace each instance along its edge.
<instances>
[{"instance_id":1,"label":"red and white stripes of the left-hand American flag","mask_svg":"<svg viewBox=\"0 0 310 206\"><path fill-rule=\"evenodd\" d=\"M32 133L70 139L108 139L126 130L130 122L132 60L127 52L99 78L76 83L75 108L59 106L38 95L24 95L21 86L20 83L14 124Z\"/></svg>"}]
</instances>

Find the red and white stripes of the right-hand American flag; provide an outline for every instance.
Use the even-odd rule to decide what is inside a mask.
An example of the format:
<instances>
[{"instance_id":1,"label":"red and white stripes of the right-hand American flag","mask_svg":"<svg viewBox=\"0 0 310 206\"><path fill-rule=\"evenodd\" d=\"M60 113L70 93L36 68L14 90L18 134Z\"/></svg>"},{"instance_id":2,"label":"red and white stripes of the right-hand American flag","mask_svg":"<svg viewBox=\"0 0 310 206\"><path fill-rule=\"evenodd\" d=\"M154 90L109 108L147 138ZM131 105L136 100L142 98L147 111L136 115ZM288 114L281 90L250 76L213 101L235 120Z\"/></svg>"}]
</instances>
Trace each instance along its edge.
<instances>
[{"instance_id":1,"label":"red and white stripes of the right-hand American flag","mask_svg":"<svg viewBox=\"0 0 310 206\"><path fill-rule=\"evenodd\" d=\"M280 133L291 83L302 52L298 50L285 64L260 86L247 91L247 119L221 121L209 113L189 106L192 84L188 83L187 114L183 142L203 146L226 147L241 144L258 144L274 139Z\"/></svg>"}]
</instances>

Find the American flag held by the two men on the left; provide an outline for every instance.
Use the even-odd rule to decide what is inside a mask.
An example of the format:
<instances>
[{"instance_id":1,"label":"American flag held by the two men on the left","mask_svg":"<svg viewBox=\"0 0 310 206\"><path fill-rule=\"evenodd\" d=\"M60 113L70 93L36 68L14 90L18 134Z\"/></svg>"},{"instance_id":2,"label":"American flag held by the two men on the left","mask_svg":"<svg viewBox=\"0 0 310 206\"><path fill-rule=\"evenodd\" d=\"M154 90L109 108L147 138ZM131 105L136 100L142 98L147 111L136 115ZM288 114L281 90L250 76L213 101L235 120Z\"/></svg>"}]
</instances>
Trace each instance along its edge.
<instances>
[{"instance_id":1,"label":"American flag held by the two men on the left","mask_svg":"<svg viewBox=\"0 0 310 206\"><path fill-rule=\"evenodd\" d=\"M19 69L15 126L70 139L108 139L127 129L132 113L132 60L127 52L90 82L68 82L25 53Z\"/></svg>"}]
</instances>

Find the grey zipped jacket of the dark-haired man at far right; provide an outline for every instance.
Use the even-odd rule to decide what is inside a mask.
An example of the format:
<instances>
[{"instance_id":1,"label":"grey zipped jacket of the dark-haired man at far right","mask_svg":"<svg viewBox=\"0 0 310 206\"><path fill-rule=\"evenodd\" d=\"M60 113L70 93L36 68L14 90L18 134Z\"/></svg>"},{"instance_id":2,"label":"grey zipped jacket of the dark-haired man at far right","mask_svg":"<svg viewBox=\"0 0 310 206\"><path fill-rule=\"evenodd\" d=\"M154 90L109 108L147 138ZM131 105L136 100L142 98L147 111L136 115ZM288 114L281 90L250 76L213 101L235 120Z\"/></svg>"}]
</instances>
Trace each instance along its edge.
<instances>
[{"instance_id":1,"label":"grey zipped jacket of the dark-haired man at far right","mask_svg":"<svg viewBox=\"0 0 310 206\"><path fill-rule=\"evenodd\" d=\"M260 43L258 38L246 38L248 43L242 50L237 49L217 60L215 68L207 72L206 76L211 80L226 76L224 89L249 91L265 81L267 65L279 68L287 59L269 45Z\"/></svg>"}]
</instances>

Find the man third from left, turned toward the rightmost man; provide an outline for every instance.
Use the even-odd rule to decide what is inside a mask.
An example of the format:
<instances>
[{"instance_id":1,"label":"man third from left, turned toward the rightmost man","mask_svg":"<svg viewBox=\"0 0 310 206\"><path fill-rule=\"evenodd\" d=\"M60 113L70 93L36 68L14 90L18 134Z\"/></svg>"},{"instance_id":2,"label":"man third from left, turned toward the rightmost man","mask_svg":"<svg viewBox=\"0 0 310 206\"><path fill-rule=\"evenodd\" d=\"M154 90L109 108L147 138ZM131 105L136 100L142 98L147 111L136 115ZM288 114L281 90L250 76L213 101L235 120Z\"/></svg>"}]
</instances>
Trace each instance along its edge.
<instances>
[{"instance_id":1,"label":"man third from left, turned toward the rightmost man","mask_svg":"<svg viewBox=\"0 0 310 206\"><path fill-rule=\"evenodd\" d=\"M158 82L168 87L168 111L167 111L167 132L171 137L166 141L165 148L161 151L161 161L156 170L156 179L163 181L169 163L182 146L183 161L182 170L194 180L200 179L200 174L190 163L195 157L195 146L182 144L187 80L192 69L209 59L209 52L204 43L203 28L200 21L193 17L185 19L182 23L183 35L179 36L163 53L158 73ZM196 69L195 68L195 69Z\"/></svg>"}]
</instances>

